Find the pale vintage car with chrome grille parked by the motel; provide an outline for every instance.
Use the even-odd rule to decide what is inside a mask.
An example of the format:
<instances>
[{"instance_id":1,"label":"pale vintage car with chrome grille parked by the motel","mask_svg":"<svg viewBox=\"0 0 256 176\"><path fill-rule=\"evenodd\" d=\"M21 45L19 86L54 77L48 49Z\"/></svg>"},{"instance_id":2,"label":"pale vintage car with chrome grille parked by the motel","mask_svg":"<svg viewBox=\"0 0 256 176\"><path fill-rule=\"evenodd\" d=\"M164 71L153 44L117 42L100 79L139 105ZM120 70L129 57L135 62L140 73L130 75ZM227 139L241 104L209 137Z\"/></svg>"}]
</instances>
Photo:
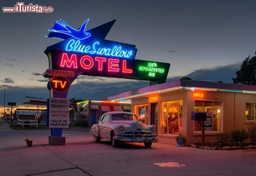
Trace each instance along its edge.
<instances>
[{"instance_id":1,"label":"pale vintage car with chrome grille parked by the motel","mask_svg":"<svg viewBox=\"0 0 256 176\"><path fill-rule=\"evenodd\" d=\"M118 147L119 142L139 142L151 147L152 142L157 141L154 125L143 124L134 113L122 111L103 114L98 123L92 125L90 134L94 135L95 142L112 141L113 147Z\"/></svg>"}]
</instances>

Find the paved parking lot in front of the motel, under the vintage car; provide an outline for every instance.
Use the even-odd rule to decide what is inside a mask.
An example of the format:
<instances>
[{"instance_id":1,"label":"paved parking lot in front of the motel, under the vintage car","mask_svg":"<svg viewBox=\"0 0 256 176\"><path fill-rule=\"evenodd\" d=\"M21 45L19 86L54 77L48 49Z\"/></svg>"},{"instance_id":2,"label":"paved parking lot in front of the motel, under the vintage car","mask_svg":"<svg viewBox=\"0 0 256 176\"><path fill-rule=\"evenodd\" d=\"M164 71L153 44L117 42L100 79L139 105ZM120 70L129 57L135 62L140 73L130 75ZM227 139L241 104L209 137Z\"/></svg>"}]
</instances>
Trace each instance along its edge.
<instances>
[{"instance_id":1,"label":"paved parking lot in front of the motel, under the vintage car","mask_svg":"<svg viewBox=\"0 0 256 176\"><path fill-rule=\"evenodd\" d=\"M90 128L63 129L66 145L48 145L50 130L12 130L0 123L0 176L255 175L256 150L95 143ZM26 138L33 140L27 147Z\"/></svg>"}]
</instances>

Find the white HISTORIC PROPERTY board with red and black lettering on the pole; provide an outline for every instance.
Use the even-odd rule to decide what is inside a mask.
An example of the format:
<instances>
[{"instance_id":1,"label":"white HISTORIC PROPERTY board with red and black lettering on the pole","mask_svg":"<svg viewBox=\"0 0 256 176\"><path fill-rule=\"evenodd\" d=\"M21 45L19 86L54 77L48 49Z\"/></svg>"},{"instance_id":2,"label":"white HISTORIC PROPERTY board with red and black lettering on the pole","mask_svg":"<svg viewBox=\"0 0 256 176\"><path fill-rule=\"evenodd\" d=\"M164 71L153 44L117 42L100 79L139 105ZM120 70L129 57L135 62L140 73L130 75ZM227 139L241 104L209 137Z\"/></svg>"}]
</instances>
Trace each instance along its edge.
<instances>
[{"instance_id":1,"label":"white HISTORIC PROPERTY board with red and black lettering on the pole","mask_svg":"<svg viewBox=\"0 0 256 176\"><path fill-rule=\"evenodd\" d=\"M69 98L49 99L49 128L69 128Z\"/></svg>"}]
</instances>

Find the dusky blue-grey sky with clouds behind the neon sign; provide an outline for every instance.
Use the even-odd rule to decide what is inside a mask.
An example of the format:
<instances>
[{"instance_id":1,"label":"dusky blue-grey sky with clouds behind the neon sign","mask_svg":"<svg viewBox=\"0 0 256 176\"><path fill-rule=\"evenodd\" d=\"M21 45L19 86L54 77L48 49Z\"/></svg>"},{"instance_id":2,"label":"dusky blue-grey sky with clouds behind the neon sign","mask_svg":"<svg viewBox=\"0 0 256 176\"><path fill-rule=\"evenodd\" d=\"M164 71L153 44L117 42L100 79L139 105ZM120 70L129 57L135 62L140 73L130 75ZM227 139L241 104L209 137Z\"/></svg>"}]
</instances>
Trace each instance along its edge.
<instances>
[{"instance_id":1,"label":"dusky blue-grey sky with clouds behind the neon sign","mask_svg":"<svg viewBox=\"0 0 256 176\"><path fill-rule=\"evenodd\" d=\"M1 1L14 7L21 1ZM183 76L193 80L232 83L242 61L256 51L254 0L30 0L52 7L52 13L1 13L0 107L26 96L49 98L43 73L49 68L46 47L60 42L47 38L54 22L63 19L78 29L115 20L106 39L133 44L135 59L170 63L167 82ZM149 86L149 81L80 75L68 98L102 100ZM0 110L2 112L2 109Z\"/></svg>"}]
</instances>

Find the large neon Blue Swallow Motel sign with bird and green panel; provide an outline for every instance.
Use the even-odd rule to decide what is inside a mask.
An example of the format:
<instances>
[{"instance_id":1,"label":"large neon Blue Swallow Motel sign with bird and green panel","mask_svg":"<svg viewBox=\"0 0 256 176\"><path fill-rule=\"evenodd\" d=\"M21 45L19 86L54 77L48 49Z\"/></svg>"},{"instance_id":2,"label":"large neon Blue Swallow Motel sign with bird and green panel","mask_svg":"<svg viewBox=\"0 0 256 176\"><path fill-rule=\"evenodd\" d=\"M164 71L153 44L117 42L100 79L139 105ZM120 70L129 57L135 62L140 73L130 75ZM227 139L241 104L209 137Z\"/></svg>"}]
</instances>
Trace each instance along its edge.
<instances>
[{"instance_id":1,"label":"large neon Blue Swallow Motel sign with bird and green panel","mask_svg":"<svg viewBox=\"0 0 256 176\"><path fill-rule=\"evenodd\" d=\"M135 59L135 45L105 39L116 20L87 30L89 20L78 30L62 19L55 21L47 37L62 41L44 51L49 59L44 77L63 76L70 84L78 75L158 81L159 84L166 81L169 63ZM49 90L54 87L52 82L48 83ZM59 86L62 85L59 83Z\"/></svg>"}]
</instances>

